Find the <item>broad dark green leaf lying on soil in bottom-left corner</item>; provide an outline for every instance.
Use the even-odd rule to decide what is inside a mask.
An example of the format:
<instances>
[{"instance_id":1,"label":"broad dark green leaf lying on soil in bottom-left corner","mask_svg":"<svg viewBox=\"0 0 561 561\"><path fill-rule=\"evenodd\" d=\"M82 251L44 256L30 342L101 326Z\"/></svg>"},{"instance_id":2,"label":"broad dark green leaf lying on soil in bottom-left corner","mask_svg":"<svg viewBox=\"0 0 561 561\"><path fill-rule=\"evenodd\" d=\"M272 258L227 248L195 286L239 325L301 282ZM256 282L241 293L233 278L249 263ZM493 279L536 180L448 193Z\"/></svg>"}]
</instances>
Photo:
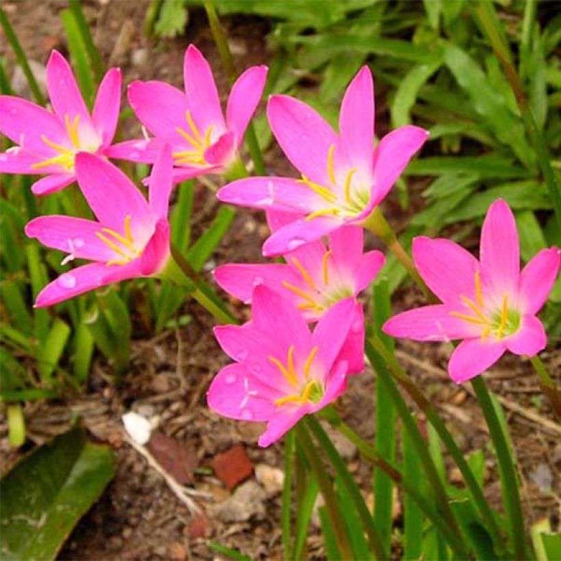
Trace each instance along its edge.
<instances>
[{"instance_id":1,"label":"broad dark green leaf lying on soil in bottom-left corner","mask_svg":"<svg viewBox=\"0 0 561 561\"><path fill-rule=\"evenodd\" d=\"M31 452L1 480L2 557L54 559L113 476L111 450L81 429Z\"/></svg>"}]
</instances>

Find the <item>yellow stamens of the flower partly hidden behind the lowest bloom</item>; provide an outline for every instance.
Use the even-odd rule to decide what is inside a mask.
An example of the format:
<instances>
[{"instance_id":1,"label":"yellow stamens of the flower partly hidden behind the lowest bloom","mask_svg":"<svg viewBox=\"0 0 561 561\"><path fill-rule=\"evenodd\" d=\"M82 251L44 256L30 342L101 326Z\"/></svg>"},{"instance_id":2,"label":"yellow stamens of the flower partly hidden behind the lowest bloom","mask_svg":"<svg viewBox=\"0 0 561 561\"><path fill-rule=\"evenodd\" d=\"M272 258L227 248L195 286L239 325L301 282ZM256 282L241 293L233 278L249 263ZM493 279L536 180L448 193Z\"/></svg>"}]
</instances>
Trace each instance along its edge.
<instances>
[{"instance_id":1,"label":"yellow stamens of the flower partly hidden behind the lowest bloom","mask_svg":"<svg viewBox=\"0 0 561 561\"><path fill-rule=\"evenodd\" d=\"M314 313L322 313L329 306L332 306L339 300L343 298L349 298L353 295L351 287L333 287L330 286L329 282L329 257L332 251L326 251L322 260L322 281L323 287L318 287L317 283L313 280L309 272L304 269L302 263L296 259L296 257L291 257L293 265L296 267L306 285L308 285L311 291L306 291L300 287L289 283L288 281L283 281L283 286L296 295L302 298L303 302L298 304L298 309L312 311Z\"/></svg>"}]
</instances>

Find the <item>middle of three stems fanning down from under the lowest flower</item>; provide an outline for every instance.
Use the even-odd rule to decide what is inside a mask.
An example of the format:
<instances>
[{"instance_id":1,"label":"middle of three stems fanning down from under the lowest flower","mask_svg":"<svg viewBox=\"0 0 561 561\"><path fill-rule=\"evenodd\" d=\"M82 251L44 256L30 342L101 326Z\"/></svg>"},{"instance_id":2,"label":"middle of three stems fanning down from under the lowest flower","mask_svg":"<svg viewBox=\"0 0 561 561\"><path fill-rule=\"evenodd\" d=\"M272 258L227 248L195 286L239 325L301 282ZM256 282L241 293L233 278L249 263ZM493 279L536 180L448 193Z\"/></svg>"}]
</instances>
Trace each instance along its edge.
<instances>
[{"instance_id":1,"label":"middle of three stems fanning down from under the lowest flower","mask_svg":"<svg viewBox=\"0 0 561 561\"><path fill-rule=\"evenodd\" d=\"M313 415L306 416L304 422L306 423L306 426L309 428L309 430L313 432L315 439L319 443L319 446L324 449L324 452L329 458L332 466L335 468L337 475L339 475L339 477L343 481L343 484L347 488L349 496L354 503L356 513L363 522L364 530L368 537L371 551L374 552L376 559L389 559L389 554L387 551L384 551L384 547L382 546L382 538L380 537L380 534L378 534L376 526L374 526L374 520L372 519L370 511L365 504L363 496L361 495L361 491L352 478L352 475L349 473L349 470L345 466L343 458L341 458L331 439L319 424L319 421L317 421L317 419Z\"/></svg>"}]
</instances>

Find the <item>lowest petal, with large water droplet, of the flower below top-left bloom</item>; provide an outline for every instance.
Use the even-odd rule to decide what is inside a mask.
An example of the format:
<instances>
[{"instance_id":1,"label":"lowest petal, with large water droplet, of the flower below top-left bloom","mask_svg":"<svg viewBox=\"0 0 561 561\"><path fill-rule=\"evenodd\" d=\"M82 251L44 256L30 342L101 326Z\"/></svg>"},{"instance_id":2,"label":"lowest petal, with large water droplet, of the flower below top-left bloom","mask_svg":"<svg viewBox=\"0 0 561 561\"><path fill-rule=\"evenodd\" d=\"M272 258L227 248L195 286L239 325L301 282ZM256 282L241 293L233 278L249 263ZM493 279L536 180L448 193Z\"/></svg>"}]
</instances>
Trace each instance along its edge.
<instances>
[{"instance_id":1,"label":"lowest petal, with large water droplet, of the flower below top-left bloom","mask_svg":"<svg viewBox=\"0 0 561 561\"><path fill-rule=\"evenodd\" d=\"M105 286L109 284L104 279L109 269L105 263L88 263L63 273L40 291L35 306L54 306L84 292Z\"/></svg>"}]
</instances>

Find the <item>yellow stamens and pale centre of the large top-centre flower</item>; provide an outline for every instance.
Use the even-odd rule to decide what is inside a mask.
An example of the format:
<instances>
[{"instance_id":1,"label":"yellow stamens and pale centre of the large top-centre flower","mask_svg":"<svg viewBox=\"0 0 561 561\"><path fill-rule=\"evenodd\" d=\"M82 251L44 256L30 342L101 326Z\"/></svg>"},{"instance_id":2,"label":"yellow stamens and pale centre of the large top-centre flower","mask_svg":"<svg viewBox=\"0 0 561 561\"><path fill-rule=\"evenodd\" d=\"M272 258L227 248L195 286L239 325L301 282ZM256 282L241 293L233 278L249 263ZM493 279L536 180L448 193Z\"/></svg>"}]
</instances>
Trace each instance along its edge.
<instances>
[{"instance_id":1,"label":"yellow stamens and pale centre of the large top-centre flower","mask_svg":"<svg viewBox=\"0 0 561 561\"><path fill-rule=\"evenodd\" d=\"M333 155L335 154L335 144L329 146L327 154L327 174L329 177L330 186L325 187L314 183L302 174L302 179L299 183L303 183L309 187L313 192L322 197L328 206L309 213L304 220L313 220L317 216L356 216L363 211L368 204L370 195L367 190L361 188L360 185L353 184L353 177L356 173L356 168L350 168L345 175L343 185L337 183L335 177L335 168L333 165ZM335 191L333 190L335 188Z\"/></svg>"}]
</instances>

